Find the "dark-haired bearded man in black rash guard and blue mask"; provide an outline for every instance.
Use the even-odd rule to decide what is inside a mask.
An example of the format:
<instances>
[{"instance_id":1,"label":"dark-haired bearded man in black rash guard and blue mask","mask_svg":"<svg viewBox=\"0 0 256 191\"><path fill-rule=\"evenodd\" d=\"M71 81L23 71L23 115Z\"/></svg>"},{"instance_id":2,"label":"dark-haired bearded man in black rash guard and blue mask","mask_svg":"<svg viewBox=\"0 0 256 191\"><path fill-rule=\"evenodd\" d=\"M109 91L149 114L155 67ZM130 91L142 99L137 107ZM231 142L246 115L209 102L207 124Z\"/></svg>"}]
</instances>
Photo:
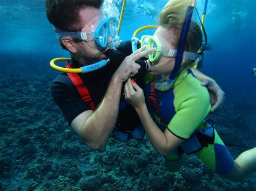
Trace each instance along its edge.
<instances>
[{"instance_id":1,"label":"dark-haired bearded man in black rash guard and blue mask","mask_svg":"<svg viewBox=\"0 0 256 191\"><path fill-rule=\"evenodd\" d=\"M107 48L102 46L95 36L92 36L103 20L103 13L100 10L103 1L46 0L48 20L60 36L60 45L71 53L70 66L72 68L90 65L107 58L104 54ZM86 32L87 39L79 39L80 37L76 34L81 32ZM110 42L111 38L107 37L107 43ZM143 48L140 48L118 65L109 64L93 72L79 74L92 98L91 103L95 105L96 109L91 107L91 103L83 101L77 87L66 73L60 74L52 82L53 100L63 112L72 129L93 150L105 149L107 140L115 126L117 128L114 131L116 132L114 136L127 135L126 140L129 137L136 138L138 132L141 131L137 128L138 116L131 106L126 105L118 115L119 108L123 107L123 105L119 105L119 102L122 96L123 82L130 76L134 76L140 68L135 61L151 51L153 50L149 49L143 52ZM213 110L218 108L224 98L223 91L214 80L197 70L194 72L199 79L208 80L208 90L212 91L218 100ZM120 138L119 140L125 141L125 139Z\"/></svg>"}]
</instances>

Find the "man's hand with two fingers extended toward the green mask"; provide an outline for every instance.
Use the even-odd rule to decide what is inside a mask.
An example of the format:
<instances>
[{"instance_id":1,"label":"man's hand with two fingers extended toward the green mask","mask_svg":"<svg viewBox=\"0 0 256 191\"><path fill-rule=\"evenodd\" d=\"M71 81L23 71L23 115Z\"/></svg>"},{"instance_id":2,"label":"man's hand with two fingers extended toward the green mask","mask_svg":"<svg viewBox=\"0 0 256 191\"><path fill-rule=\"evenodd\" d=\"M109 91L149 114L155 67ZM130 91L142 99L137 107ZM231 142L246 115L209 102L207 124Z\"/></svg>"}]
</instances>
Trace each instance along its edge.
<instances>
[{"instance_id":1,"label":"man's hand with two fingers extended toward the green mask","mask_svg":"<svg viewBox=\"0 0 256 191\"><path fill-rule=\"evenodd\" d=\"M119 79L121 82L125 82L129 77L136 75L138 73L140 65L138 65L135 61L143 58L144 56L153 51L153 49L148 49L144 51L145 48L146 46L143 46L137 51L133 52L131 55L126 56L124 61L114 73L114 77Z\"/></svg>"}]
</instances>

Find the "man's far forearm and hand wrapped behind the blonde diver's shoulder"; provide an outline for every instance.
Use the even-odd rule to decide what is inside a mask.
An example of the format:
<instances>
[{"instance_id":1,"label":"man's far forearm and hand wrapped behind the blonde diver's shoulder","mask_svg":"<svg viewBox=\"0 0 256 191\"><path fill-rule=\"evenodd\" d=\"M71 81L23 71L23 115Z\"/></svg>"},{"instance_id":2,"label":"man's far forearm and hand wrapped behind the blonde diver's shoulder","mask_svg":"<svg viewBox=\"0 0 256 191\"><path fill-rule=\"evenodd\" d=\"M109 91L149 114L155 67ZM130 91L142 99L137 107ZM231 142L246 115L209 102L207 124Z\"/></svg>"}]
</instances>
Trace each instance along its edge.
<instances>
[{"instance_id":1,"label":"man's far forearm and hand wrapped behind the blonde diver's shoulder","mask_svg":"<svg viewBox=\"0 0 256 191\"><path fill-rule=\"evenodd\" d=\"M220 86L211 77L199 72L196 68L192 68L192 72L200 80L201 85L205 86L210 94L210 102L212 104L211 112L220 108L225 100L225 93Z\"/></svg>"}]
</instances>

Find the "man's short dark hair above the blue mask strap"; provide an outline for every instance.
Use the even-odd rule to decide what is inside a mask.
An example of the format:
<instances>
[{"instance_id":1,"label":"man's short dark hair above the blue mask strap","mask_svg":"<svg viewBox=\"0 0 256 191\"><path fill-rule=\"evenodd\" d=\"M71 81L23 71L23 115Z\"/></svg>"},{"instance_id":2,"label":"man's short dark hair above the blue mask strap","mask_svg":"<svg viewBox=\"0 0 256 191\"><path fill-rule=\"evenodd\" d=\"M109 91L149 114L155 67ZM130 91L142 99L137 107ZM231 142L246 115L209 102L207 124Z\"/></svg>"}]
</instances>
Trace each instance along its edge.
<instances>
[{"instance_id":1,"label":"man's short dark hair above the blue mask strap","mask_svg":"<svg viewBox=\"0 0 256 191\"><path fill-rule=\"evenodd\" d=\"M100 9L104 0L46 0L46 17L49 22L63 31L80 31L79 11L86 7ZM79 40L78 40L79 41ZM59 40L59 44L66 49Z\"/></svg>"}]
</instances>

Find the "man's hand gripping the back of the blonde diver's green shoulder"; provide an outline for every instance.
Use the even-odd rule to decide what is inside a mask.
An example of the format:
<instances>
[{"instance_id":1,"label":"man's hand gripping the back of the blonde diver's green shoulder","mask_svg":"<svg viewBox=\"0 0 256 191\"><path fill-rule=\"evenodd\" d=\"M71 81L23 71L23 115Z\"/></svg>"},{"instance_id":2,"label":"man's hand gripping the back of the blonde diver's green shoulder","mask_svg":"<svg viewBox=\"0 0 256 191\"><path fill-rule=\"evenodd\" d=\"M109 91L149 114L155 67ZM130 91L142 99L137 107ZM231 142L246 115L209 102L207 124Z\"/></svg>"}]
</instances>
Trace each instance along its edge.
<instances>
[{"instance_id":1,"label":"man's hand gripping the back of the blonde diver's green shoulder","mask_svg":"<svg viewBox=\"0 0 256 191\"><path fill-rule=\"evenodd\" d=\"M219 109L225 100L225 93L215 80L210 77L201 82L201 86L205 86L210 94L210 102L212 105L211 112Z\"/></svg>"}]
</instances>

